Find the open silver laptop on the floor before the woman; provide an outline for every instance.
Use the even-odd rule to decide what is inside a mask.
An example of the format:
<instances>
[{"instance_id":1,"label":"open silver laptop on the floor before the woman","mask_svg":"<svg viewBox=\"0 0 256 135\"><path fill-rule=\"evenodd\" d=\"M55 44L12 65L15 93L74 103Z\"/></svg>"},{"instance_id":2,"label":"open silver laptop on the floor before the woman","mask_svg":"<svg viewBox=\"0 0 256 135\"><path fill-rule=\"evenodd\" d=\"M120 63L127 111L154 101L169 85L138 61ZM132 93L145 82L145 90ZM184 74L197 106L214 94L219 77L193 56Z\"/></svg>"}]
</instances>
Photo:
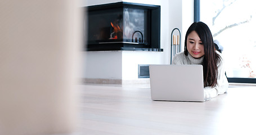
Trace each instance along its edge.
<instances>
[{"instance_id":1,"label":"open silver laptop on the floor before the woman","mask_svg":"<svg viewBox=\"0 0 256 135\"><path fill-rule=\"evenodd\" d=\"M150 65L151 98L204 102L202 65Z\"/></svg>"}]
</instances>

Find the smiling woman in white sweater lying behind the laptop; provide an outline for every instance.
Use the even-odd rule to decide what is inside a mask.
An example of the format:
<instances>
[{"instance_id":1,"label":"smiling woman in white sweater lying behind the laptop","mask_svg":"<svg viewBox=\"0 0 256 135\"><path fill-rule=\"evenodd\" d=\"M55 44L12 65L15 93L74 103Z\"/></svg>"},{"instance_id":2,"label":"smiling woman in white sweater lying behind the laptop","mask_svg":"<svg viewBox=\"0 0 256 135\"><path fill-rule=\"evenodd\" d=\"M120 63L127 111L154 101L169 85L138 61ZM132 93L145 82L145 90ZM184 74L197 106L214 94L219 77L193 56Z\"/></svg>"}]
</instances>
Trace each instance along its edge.
<instances>
[{"instance_id":1,"label":"smiling woman in white sweater lying behind the laptop","mask_svg":"<svg viewBox=\"0 0 256 135\"><path fill-rule=\"evenodd\" d=\"M228 81L221 53L215 50L213 36L204 22L194 22L185 37L185 51L173 57L175 65L203 65L205 98L225 93Z\"/></svg>"}]
</instances>

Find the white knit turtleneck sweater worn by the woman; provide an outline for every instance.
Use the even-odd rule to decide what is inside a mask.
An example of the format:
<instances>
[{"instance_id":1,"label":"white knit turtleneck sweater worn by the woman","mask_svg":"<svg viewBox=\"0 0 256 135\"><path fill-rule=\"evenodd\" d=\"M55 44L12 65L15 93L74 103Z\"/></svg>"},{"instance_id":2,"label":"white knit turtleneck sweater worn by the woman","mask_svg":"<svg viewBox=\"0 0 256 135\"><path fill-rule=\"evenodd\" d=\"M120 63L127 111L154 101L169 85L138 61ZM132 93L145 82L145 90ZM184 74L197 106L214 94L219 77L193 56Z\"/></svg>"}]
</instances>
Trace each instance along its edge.
<instances>
[{"instance_id":1,"label":"white knit turtleneck sweater worn by the woman","mask_svg":"<svg viewBox=\"0 0 256 135\"><path fill-rule=\"evenodd\" d=\"M204 96L205 99L213 98L218 95L225 93L228 89L228 81L225 75L224 62L222 59L222 54L216 51L219 56L221 56L221 61L218 62L218 78L217 85L215 87L204 87ZM188 53L188 56L184 54L184 52L177 53L172 60L172 64L174 65L199 65L203 63L203 57L199 59L195 59Z\"/></svg>"}]
</instances>

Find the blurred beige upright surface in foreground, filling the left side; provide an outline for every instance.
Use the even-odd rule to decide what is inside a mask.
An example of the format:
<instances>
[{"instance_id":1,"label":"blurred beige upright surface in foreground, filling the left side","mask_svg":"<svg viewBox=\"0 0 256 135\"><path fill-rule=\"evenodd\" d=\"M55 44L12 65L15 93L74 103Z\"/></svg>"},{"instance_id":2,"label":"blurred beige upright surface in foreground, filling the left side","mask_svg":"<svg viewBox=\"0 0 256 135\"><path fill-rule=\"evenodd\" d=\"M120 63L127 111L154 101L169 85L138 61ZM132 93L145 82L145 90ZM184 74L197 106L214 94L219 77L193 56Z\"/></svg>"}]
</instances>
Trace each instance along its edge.
<instances>
[{"instance_id":1,"label":"blurred beige upright surface in foreground, filling the left side","mask_svg":"<svg viewBox=\"0 0 256 135\"><path fill-rule=\"evenodd\" d=\"M0 2L0 134L76 126L80 11L75 1Z\"/></svg>"}]
</instances>

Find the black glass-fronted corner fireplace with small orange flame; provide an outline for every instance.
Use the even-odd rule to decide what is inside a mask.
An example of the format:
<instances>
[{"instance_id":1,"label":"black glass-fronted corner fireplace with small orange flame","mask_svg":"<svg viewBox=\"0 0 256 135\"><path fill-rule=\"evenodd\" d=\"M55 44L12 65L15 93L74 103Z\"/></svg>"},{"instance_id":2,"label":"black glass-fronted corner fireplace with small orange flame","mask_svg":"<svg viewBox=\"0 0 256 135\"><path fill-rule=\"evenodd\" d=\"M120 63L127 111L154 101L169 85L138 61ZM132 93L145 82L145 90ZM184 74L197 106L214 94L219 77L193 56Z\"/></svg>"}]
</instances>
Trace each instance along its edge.
<instances>
[{"instance_id":1,"label":"black glass-fronted corner fireplace with small orange flame","mask_svg":"<svg viewBox=\"0 0 256 135\"><path fill-rule=\"evenodd\" d=\"M161 51L160 6L117 2L85 9L86 51Z\"/></svg>"}]
</instances>

